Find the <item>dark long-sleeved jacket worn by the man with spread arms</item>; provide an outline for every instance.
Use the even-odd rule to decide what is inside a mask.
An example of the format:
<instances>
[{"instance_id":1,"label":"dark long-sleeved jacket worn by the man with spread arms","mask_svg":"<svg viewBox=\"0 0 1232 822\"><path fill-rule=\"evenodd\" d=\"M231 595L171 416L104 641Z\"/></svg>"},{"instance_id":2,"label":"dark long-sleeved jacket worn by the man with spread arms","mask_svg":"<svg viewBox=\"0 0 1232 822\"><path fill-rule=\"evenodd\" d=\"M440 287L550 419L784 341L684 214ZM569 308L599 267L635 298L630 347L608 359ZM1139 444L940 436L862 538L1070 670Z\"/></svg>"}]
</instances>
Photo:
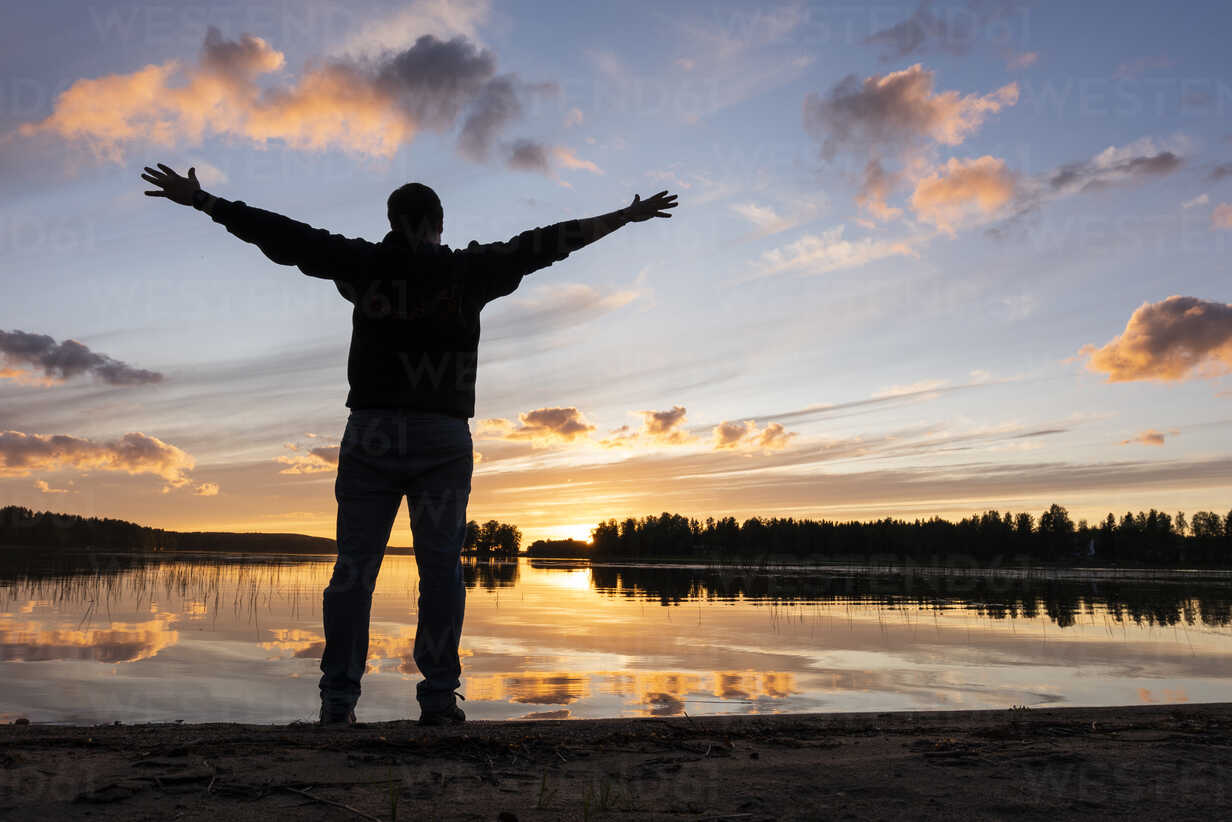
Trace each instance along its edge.
<instances>
[{"instance_id":1,"label":"dark long-sleeved jacket worn by the man with spread arms","mask_svg":"<svg viewBox=\"0 0 1232 822\"><path fill-rule=\"evenodd\" d=\"M219 200L213 218L275 262L333 280L355 304L347 405L462 418L474 417L479 312L586 244L577 219L451 249L411 246L394 232L379 243L350 239L240 201Z\"/></svg>"}]
</instances>

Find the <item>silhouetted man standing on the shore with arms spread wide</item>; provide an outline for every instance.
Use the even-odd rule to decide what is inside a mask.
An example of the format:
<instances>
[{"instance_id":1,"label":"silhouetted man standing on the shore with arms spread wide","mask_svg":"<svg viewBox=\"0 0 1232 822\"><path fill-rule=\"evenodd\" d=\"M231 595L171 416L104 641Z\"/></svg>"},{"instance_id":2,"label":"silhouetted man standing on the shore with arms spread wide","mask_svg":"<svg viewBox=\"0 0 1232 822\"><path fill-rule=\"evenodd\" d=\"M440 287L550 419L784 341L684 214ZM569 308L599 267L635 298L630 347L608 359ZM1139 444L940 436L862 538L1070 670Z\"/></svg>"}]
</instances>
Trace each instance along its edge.
<instances>
[{"instance_id":1,"label":"silhouetted man standing on the shore with arms spread wide","mask_svg":"<svg viewBox=\"0 0 1232 822\"><path fill-rule=\"evenodd\" d=\"M346 404L351 414L338 463L338 561L325 589L322 725L352 725L367 663L372 590L402 498L419 567L414 658L420 723L466 720L456 689L466 588L461 551L471 493L479 312L522 277L563 260L630 222L670 217L662 191L621 210L522 232L506 243L441 244L444 210L425 185L388 200L391 230L379 243L347 239L281 214L207 193L196 169L184 177L159 164L145 193L193 206L267 258L333 280L355 304Z\"/></svg>"}]
</instances>

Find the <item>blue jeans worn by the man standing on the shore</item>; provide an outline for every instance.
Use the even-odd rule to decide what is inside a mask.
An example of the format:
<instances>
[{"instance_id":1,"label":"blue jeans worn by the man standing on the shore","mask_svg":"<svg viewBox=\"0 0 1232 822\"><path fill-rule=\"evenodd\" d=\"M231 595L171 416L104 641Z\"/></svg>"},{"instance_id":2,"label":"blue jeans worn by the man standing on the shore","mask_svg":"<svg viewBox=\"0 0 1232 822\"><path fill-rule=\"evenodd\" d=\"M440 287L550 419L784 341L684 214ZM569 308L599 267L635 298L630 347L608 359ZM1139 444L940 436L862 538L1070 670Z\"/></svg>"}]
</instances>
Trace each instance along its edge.
<instances>
[{"instance_id":1,"label":"blue jeans worn by the man standing on the shore","mask_svg":"<svg viewBox=\"0 0 1232 822\"><path fill-rule=\"evenodd\" d=\"M453 704L466 608L462 542L474 467L467 420L399 409L356 409L338 461L338 561L325 589L320 699L345 712L360 699L367 665L372 590L402 498L419 567L414 659L424 710Z\"/></svg>"}]
</instances>

